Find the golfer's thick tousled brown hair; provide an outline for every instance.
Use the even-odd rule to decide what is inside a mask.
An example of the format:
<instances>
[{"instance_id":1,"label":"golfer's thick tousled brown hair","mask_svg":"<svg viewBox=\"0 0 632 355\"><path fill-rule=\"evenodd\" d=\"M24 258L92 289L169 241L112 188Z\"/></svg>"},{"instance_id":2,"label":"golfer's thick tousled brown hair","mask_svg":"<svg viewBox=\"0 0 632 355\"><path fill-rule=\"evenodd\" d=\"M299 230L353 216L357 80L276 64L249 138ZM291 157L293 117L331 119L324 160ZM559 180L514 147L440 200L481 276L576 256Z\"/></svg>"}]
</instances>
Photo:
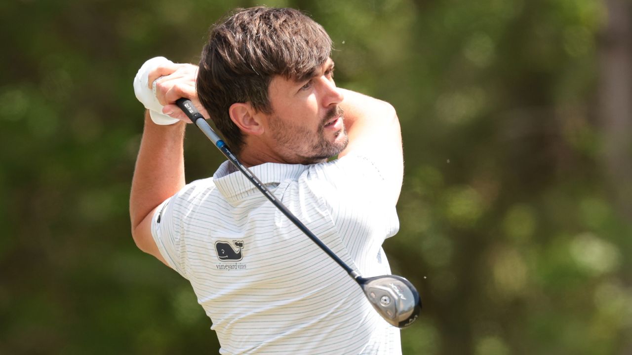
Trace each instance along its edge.
<instances>
[{"instance_id":1,"label":"golfer's thick tousled brown hair","mask_svg":"<svg viewBox=\"0 0 632 355\"><path fill-rule=\"evenodd\" d=\"M235 102L272 113L268 86L276 75L296 81L312 76L331 54L324 28L296 9L238 9L210 28L202 50L197 92L235 153L243 135L228 109Z\"/></svg>"}]
</instances>

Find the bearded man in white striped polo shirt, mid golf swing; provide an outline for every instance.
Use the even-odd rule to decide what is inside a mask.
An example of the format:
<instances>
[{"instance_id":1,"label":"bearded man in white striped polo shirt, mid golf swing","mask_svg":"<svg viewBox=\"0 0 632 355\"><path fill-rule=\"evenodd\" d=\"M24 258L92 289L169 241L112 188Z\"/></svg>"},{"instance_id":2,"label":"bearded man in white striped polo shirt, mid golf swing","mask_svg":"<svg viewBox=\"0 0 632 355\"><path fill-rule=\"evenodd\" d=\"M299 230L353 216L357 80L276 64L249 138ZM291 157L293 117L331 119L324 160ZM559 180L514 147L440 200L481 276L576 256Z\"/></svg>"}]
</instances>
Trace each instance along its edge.
<instances>
[{"instance_id":1,"label":"bearded man in white striped polo shirt, mid golf swing","mask_svg":"<svg viewBox=\"0 0 632 355\"><path fill-rule=\"evenodd\" d=\"M390 274L381 245L399 228L398 118L386 102L336 88L330 54L329 35L308 16L260 7L212 27L197 82L190 64L149 73L162 113L179 121L145 115L133 237L190 280L221 354L401 353L399 329L241 172L224 162L185 184L180 97L344 262L366 277Z\"/></svg>"}]
</instances>

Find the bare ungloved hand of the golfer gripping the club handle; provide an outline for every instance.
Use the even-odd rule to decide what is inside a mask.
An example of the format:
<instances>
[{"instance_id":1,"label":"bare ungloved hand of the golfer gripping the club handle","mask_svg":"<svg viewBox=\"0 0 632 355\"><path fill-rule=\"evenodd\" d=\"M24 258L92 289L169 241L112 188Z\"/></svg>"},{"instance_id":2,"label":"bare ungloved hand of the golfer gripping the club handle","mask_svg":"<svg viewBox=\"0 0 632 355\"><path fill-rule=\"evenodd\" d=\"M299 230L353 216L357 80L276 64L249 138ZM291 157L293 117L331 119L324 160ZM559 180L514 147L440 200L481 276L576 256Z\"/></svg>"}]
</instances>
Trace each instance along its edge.
<instances>
[{"instance_id":1,"label":"bare ungloved hand of the golfer gripping the club handle","mask_svg":"<svg viewBox=\"0 0 632 355\"><path fill-rule=\"evenodd\" d=\"M157 66L149 73L149 88L153 90L155 83L155 95L162 107L162 113L169 117L177 118L186 123L191 123L185 112L175 104L181 97L190 99L193 105L206 119L208 112L202 107L195 91L198 67L193 64L164 63Z\"/></svg>"}]
</instances>

